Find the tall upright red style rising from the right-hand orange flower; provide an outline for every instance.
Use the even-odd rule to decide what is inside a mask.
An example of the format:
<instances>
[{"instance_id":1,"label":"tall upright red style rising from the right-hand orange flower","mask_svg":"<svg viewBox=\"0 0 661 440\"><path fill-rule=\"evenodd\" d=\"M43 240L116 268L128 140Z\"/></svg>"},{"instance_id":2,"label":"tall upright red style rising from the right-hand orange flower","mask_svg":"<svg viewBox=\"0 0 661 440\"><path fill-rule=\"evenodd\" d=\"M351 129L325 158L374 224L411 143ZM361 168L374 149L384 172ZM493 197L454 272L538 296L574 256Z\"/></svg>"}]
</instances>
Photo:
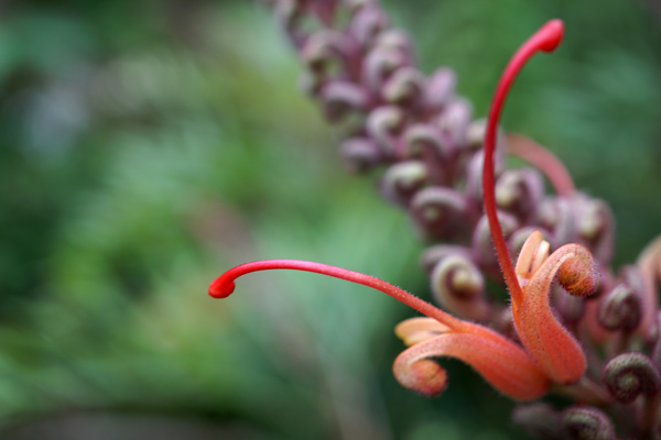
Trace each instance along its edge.
<instances>
[{"instance_id":1,"label":"tall upright red style rising from the right-hand orange flower","mask_svg":"<svg viewBox=\"0 0 661 440\"><path fill-rule=\"evenodd\" d=\"M496 89L494 100L491 102L491 109L489 110L489 118L487 122L487 130L485 134L485 164L483 169L483 193L485 198L485 211L489 219L489 227L491 229L491 235L494 237L494 244L496 245L496 252L500 266L505 274L505 279L510 288L512 298L521 297L521 287L517 280L514 273L514 266L512 264L505 235L502 234L502 228L498 221L496 210L496 194L494 184L494 151L496 150L496 134L498 129L498 121L500 120L500 113L502 106L509 92L510 86L514 81L517 75L528 59L534 55L538 51L551 52L554 51L564 34L564 25L560 20L551 20L544 24L538 32L534 33L530 38L525 41L519 47L517 53L512 56L509 64L505 68L500 81Z\"/></svg>"}]
</instances>

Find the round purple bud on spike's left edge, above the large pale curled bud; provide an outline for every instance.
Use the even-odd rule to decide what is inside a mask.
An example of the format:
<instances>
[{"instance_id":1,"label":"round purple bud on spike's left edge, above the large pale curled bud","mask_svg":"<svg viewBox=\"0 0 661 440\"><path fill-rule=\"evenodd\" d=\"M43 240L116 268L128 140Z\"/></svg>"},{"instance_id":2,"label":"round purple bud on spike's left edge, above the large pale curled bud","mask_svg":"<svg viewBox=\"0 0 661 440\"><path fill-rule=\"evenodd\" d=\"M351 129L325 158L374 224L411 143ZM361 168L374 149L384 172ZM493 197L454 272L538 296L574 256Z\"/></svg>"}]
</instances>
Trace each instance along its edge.
<instances>
[{"instance_id":1,"label":"round purple bud on spike's left edge, above the large pale curled bud","mask_svg":"<svg viewBox=\"0 0 661 440\"><path fill-rule=\"evenodd\" d=\"M411 212L430 239L443 239L469 223L466 197L446 187L433 186L419 191L411 200Z\"/></svg>"}]
</instances>

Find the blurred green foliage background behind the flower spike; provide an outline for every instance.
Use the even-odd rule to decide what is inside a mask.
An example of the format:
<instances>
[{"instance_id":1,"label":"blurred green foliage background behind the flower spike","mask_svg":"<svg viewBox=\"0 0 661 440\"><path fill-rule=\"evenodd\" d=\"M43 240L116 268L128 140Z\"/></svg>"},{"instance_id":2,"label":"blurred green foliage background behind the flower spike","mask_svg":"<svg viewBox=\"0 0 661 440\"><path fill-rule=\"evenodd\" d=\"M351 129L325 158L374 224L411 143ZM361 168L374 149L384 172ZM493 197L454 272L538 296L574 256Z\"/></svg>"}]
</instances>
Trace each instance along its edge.
<instances>
[{"instance_id":1,"label":"blurred green foliage background behind the flower spike","mask_svg":"<svg viewBox=\"0 0 661 440\"><path fill-rule=\"evenodd\" d=\"M425 73L457 69L484 117L512 51L550 18L563 46L514 87L507 129L608 200L616 263L661 231L657 2L387 1ZM423 243L299 94L295 54L249 1L0 2L0 437L517 439L512 403L457 362L402 389L367 288L269 272L306 258L422 297Z\"/></svg>"}]
</instances>

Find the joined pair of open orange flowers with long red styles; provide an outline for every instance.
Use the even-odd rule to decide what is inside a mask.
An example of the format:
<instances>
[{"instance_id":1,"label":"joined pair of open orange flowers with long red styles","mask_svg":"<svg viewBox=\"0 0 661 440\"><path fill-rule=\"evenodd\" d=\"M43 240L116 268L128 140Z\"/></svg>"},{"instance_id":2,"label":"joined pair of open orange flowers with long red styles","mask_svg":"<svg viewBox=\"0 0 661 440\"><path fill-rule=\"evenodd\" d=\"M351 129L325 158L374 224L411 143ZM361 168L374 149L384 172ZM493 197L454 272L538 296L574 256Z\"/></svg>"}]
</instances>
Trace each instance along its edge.
<instances>
[{"instance_id":1,"label":"joined pair of open orange flowers with long red styles","mask_svg":"<svg viewBox=\"0 0 661 440\"><path fill-rule=\"evenodd\" d=\"M549 243L535 231L523 245L514 268L498 221L494 185L496 125L507 91L525 61L537 51L553 51L562 34L562 22L551 21L516 53L497 89L485 140L485 210L523 346L487 327L457 319L379 278L313 262L269 260L242 264L216 278L209 295L225 298L234 292L236 278L264 270L314 272L390 295L427 317L409 319L397 327L395 333L410 346L394 361L393 372L403 386L429 396L438 395L447 384L445 371L432 360L442 356L469 364L495 388L517 400L539 398L552 383L578 381L585 371L585 355L578 342L554 317L549 295L555 279L573 295L594 290L597 278L592 255L585 248L568 244L549 256Z\"/></svg>"}]
</instances>

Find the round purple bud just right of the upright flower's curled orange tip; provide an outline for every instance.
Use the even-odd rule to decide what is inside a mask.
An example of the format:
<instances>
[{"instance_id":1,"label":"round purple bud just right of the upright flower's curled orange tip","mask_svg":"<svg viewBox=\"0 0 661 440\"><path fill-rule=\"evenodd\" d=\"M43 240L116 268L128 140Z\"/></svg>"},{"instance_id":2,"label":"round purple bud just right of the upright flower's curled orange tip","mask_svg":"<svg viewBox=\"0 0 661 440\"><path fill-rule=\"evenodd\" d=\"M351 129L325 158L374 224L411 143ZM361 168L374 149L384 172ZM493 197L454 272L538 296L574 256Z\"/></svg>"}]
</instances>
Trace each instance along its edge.
<instances>
[{"instance_id":1,"label":"round purple bud just right of the upright flower's curled orange tip","mask_svg":"<svg viewBox=\"0 0 661 440\"><path fill-rule=\"evenodd\" d=\"M640 295L628 284L616 285L599 302L599 323L607 330L635 330L642 316L640 299Z\"/></svg>"}]
</instances>

